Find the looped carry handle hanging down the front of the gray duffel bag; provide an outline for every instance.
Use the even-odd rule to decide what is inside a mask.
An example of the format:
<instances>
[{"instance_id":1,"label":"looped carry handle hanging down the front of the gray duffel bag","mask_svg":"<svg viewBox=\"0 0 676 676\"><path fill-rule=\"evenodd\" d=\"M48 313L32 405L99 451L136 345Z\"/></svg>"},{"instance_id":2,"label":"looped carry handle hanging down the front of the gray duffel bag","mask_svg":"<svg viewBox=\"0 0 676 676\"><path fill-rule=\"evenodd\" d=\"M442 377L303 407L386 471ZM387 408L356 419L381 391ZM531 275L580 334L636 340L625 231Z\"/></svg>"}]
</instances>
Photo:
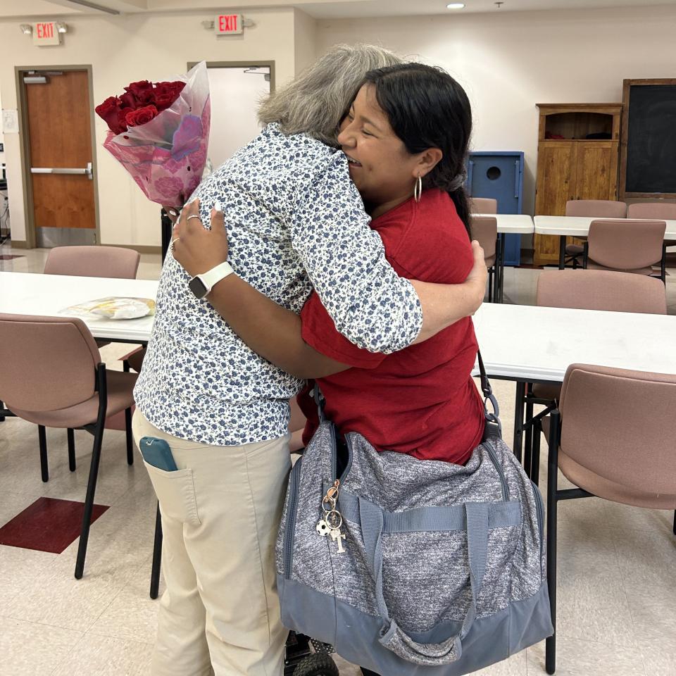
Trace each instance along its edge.
<instances>
[{"instance_id":1,"label":"looped carry handle hanging down the front of the gray duffel bag","mask_svg":"<svg viewBox=\"0 0 676 676\"><path fill-rule=\"evenodd\" d=\"M481 589L488 555L490 505L465 503L468 558L472 602L458 634L441 643L415 641L391 618L382 591L382 510L369 501L359 501L359 520L366 556L375 582L377 611L383 622L380 643L406 661L434 666L458 661L462 655L462 641L467 636L477 615L477 596Z\"/></svg>"}]
</instances>

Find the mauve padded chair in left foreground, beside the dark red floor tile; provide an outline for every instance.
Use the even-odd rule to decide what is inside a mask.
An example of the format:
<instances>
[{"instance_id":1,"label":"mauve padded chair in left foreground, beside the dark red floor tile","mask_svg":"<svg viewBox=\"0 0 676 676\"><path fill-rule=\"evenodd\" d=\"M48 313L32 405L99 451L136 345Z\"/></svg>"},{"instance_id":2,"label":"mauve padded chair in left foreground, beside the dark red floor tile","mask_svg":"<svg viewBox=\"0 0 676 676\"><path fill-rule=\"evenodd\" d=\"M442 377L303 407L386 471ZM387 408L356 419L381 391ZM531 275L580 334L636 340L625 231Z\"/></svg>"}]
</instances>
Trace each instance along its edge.
<instances>
[{"instance_id":1,"label":"mauve padded chair in left foreground, beside the dark red floor tile","mask_svg":"<svg viewBox=\"0 0 676 676\"><path fill-rule=\"evenodd\" d=\"M108 371L84 322L68 317L0 314L0 399L19 418L39 425L42 479L49 478L44 427L94 435L75 577L82 577L106 415L125 411L127 463L134 462L131 407L137 375ZM68 459L75 468L71 434Z\"/></svg>"}]
</instances>

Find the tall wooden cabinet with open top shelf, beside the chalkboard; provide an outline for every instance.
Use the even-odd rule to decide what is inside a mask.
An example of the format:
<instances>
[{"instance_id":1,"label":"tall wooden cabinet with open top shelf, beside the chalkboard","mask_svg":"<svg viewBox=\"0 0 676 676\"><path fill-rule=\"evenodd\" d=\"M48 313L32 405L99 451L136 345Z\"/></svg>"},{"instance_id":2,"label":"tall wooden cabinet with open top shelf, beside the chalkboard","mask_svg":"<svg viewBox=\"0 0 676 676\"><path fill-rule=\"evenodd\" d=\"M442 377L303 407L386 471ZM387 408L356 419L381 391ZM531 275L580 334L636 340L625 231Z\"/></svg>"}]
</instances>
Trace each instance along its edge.
<instances>
[{"instance_id":1,"label":"tall wooden cabinet with open top shelf, beside the chalkboard","mask_svg":"<svg viewBox=\"0 0 676 676\"><path fill-rule=\"evenodd\" d=\"M622 104L538 108L535 215L565 215L569 199L617 199ZM534 264L558 263L558 243L536 234Z\"/></svg>"}]
</instances>

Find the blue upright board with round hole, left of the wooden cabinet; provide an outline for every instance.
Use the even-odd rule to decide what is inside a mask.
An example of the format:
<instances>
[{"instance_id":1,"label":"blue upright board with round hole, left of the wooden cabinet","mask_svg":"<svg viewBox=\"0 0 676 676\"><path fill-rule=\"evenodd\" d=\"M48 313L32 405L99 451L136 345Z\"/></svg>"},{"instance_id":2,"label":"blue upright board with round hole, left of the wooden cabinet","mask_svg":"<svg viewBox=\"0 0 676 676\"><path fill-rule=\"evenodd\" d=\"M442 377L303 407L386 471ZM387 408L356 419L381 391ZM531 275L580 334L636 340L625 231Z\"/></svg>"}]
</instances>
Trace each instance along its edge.
<instances>
[{"instance_id":1,"label":"blue upright board with round hole, left of the wooden cabinet","mask_svg":"<svg viewBox=\"0 0 676 676\"><path fill-rule=\"evenodd\" d=\"M520 151L479 151L470 153L467 167L470 197L492 197L498 213L521 213L523 195L523 153ZM521 261L521 235L505 236L505 265Z\"/></svg>"}]
</instances>

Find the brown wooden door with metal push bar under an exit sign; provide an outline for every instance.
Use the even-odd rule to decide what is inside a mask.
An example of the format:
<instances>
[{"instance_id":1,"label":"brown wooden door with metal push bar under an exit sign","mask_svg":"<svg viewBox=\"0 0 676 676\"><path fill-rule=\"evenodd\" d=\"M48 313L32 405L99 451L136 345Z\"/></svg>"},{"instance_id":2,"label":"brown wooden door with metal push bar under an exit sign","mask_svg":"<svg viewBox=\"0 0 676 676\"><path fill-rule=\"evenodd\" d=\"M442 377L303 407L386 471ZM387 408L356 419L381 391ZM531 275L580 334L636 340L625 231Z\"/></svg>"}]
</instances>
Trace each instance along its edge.
<instances>
[{"instance_id":1,"label":"brown wooden door with metal push bar under an exit sign","mask_svg":"<svg viewBox=\"0 0 676 676\"><path fill-rule=\"evenodd\" d=\"M23 84L35 228L95 233L88 73L66 70L45 77L44 84Z\"/></svg>"}]
</instances>

